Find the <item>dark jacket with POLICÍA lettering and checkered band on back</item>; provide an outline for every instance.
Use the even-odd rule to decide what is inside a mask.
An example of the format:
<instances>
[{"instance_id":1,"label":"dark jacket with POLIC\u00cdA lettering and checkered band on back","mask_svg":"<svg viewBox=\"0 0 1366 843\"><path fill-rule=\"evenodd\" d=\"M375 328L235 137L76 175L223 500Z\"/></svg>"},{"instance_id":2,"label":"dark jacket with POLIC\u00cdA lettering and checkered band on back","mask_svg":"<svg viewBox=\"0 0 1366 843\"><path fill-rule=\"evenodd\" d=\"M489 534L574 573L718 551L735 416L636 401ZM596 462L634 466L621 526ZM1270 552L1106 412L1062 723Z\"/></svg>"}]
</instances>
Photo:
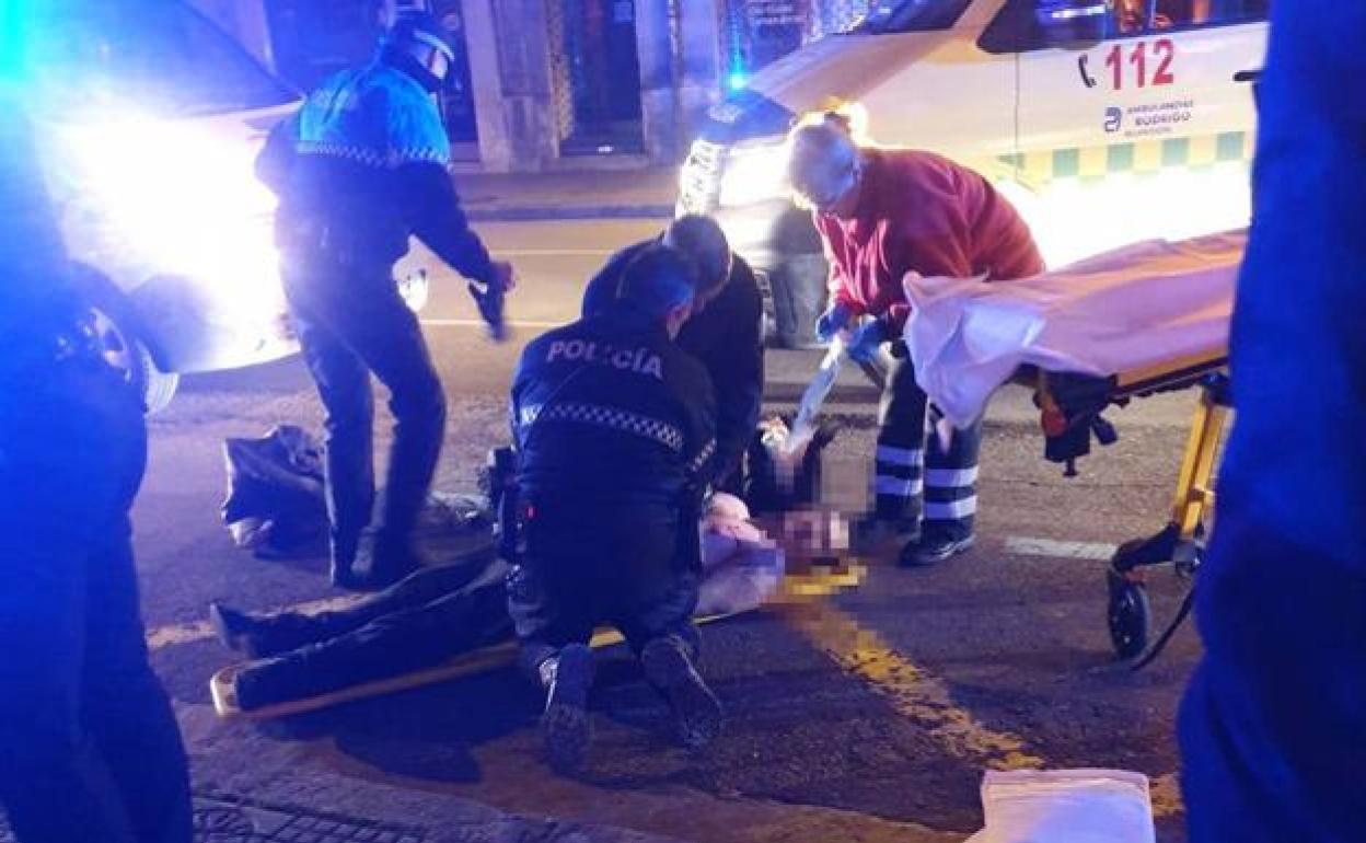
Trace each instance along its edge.
<instances>
[{"instance_id":1,"label":"dark jacket with POLIC\u00cdA lettering and checkered band on back","mask_svg":"<svg viewBox=\"0 0 1366 843\"><path fill-rule=\"evenodd\" d=\"M699 470L716 450L710 378L624 302L527 344L511 411L533 503L675 510L709 480Z\"/></svg>"}]
</instances>

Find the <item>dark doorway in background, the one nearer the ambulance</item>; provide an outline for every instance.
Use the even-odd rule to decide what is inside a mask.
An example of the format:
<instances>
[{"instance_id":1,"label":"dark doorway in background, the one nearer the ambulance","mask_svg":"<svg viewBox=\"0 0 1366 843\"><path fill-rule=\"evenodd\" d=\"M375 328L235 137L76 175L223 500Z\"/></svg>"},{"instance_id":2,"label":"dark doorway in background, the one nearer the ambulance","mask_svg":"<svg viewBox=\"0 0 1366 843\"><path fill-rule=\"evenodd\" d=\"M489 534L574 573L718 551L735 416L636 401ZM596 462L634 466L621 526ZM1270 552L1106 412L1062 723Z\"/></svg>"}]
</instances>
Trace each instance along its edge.
<instances>
[{"instance_id":1,"label":"dark doorway in background, the one nearer the ambulance","mask_svg":"<svg viewBox=\"0 0 1366 843\"><path fill-rule=\"evenodd\" d=\"M634 0L549 0L560 153L643 149Z\"/></svg>"}]
</instances>

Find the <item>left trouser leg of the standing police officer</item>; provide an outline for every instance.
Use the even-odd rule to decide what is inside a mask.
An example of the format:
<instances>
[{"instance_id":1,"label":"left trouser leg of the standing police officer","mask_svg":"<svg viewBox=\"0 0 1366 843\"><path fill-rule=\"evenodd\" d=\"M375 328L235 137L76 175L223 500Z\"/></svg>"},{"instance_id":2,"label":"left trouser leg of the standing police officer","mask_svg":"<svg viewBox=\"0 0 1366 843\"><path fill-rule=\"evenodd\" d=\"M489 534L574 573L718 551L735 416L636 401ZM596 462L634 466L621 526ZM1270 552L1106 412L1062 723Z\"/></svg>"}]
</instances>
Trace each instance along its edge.
<instances>
[{"instance_id":1,"label":"left trouser leg of the standing police officer","mask_svg":"<svg viewBox=\"0 0 1366 843\"><path fill-rule=\"evenodd\" d=\"M287 276L288 277L288 276ZM326 281L301 276L287 284L303 359L326 411L326 497L332 522L332 582L350 588L362 531L374 510L374 398L370 373L336 329L331 302L347 290L318 290Z\"/></svg>"}]
</instances>

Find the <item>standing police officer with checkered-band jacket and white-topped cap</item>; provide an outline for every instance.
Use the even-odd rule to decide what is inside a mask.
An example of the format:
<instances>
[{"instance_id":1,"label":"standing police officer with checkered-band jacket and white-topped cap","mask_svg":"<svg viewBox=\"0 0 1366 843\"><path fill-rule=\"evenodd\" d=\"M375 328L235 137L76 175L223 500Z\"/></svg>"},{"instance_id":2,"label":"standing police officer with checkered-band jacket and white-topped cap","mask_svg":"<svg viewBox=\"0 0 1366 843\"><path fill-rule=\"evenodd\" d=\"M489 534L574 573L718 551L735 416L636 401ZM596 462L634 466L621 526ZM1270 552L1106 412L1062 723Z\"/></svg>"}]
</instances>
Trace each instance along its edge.
<instances>
[{"instance_id":1,"label":"standing police officer with checkered-band jacket and white-topped cap","mask_svg":"<svg viewBox=\"0 0 1366 843\"><path fill-rule=\"evenodd\" d=\"M470 279L496 339L501 296L512 283L511 266L490 260L470 231L447 172L451 149L432 93L452 56L430 14L403 14L376 57L324 82L272 133L258 161L258 174L280 195L285 294L326 407L337 585L357 583L358 555L369 557L374 586L419 564L411 534L441 451L445 398L393 281L392 265L408 236ZM388 387L396 419L374 525L372 372Z\"/></svg>"}]
</instances>

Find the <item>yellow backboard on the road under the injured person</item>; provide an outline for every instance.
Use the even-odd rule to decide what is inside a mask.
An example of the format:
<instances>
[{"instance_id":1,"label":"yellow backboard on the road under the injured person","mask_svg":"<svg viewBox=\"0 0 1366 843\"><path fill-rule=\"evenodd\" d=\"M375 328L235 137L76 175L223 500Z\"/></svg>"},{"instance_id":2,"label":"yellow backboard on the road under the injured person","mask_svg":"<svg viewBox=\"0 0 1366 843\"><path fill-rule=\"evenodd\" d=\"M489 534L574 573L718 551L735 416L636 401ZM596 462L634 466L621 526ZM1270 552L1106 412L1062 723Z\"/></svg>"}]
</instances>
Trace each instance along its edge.
<instances>
[{"instance_id":1,"label":"yellow backboard on the road under the injured person","mask_svg":"<svg viewBox=\"0 0 1366 843\"><path fill-rule=\"evenodd\" d=\"M856 588L866 574L866 568L859 562L846 562L837 566L811 566L803 572L790 572L783 577L777 600L813 600L835 594L837 592ZM697 623L709 624L734 618L743 612L731 615L710 615L698 618ZM596 649L622 644L622 634L616 630L601 628L591 639ZM225 667L209 679L209 693L213 697L213 710L219 717L228 720L275 720L309 712L322 710L372 697L384 697L408 691L429 685L440 685L464 676L473 676L486 671L508 667L516 661L518 646L515 641L503 641L478 650L460 653L447 661L411 674L378 679L352 685L328 694L307 697L303 700L290 700L275 705L266 705L250 710L238 705L235 679L236 675L250 663L240 663Z\"/></svg>"}]
</instances>

